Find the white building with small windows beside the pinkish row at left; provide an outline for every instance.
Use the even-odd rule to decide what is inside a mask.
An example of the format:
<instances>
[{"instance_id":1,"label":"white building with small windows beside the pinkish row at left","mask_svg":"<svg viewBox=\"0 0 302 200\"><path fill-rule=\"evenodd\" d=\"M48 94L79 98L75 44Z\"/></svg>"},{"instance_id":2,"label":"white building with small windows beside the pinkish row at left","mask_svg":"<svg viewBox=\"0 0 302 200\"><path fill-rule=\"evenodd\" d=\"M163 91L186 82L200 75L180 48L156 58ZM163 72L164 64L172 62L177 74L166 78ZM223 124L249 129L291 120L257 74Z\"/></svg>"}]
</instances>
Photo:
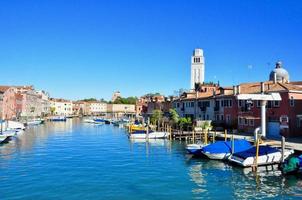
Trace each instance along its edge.
<instances>
[{"instance_id":1,"label":"white building with small windows beside the pinkish row at left","mask_svg":"<svg viewBox=\"0 0 302 200\"><path fill-rule=\"evenodd\" d=\"M72 101L65 99L51 99L50 100L50 111L53 115L59 116L71 116L72 111Z\"/></svg>"}]
</instances>

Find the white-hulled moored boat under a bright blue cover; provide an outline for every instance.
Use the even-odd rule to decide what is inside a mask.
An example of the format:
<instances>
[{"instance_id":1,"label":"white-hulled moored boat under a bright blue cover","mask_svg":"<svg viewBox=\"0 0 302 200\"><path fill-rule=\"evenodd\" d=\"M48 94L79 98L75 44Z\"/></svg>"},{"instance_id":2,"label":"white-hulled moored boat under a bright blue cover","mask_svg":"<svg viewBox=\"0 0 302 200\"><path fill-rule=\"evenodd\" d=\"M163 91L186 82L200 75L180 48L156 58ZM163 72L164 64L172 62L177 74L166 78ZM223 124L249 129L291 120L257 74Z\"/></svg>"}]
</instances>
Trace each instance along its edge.
<instances>
[{"instance_id":1,"label":"white-hulled moored boat under a bright blue cover","mask_svg":"<svg viewBox=\"0 0 302 200\"><path fill-rule=\"evenodd\" d=\"M234 142L234 144L232 144ZM232 151L232 146L234 150ZM217 141L202 148L201 152L213 160L225 160L232 152L237 153L245 151L252 147L251 143L247 140L234 140L234 141Z\"/></svg>"}]
</instances>

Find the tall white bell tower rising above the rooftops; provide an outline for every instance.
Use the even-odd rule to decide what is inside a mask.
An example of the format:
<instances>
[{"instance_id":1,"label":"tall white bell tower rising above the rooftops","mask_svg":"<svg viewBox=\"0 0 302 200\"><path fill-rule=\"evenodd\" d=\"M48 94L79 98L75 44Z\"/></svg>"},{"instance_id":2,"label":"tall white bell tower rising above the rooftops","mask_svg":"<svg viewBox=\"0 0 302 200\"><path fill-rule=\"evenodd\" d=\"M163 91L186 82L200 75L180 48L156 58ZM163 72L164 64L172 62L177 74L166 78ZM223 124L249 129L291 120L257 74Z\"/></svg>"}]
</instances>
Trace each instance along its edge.
<instances>
[{"instance_id":1,"label":"tall white bell tower rising above the rooftops","mask_svg":"<svg viewBox=\"0 0 302 200\"><path fill-rule=\"evenodd\" d=\"M191 89L195 83L204 83L204 56L202 49L195 49L191 58Z\"/></svg>"}]
</instances>

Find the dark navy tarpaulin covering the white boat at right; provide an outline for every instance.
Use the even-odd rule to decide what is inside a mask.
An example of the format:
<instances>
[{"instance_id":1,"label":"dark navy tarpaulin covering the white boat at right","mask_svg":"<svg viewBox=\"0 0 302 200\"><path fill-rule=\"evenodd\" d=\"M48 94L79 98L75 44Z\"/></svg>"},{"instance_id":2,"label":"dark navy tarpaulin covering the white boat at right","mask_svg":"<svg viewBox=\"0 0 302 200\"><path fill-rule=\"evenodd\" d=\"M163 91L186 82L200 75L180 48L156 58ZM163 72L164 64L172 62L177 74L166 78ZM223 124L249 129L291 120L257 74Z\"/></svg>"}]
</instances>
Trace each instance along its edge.
<instances>
[{"instance_id":1,"label":"dark navy tarpaulin covering the white boat at right","mask_svg":"<svg viewBox=\"0 0 302 200\"><path fill-rule=\"evenodd\" d=\"M274 147L270 147L270 146L259 146L258 156L263 156L263 155L267 155L270 153L276 153L276 152L280 152L280 150L277 148L274 148ZM255 157L256 156L256 147L252 147L246 151L238 152L233 155L236 157L239 157L239 158L243 158L243 159L246 159L248 157Z\"/></svg>"}]
</instances>

